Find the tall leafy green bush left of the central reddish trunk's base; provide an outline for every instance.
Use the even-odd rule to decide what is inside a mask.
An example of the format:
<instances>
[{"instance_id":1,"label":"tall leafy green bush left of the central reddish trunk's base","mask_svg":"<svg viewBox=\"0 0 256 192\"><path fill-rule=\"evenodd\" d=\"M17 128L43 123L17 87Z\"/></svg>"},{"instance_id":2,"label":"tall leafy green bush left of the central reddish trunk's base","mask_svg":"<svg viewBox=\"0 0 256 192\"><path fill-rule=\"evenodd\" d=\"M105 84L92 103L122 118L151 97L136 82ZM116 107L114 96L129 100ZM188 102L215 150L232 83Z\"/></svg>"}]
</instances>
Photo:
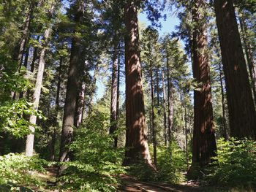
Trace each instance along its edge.
<instances>
[{"instance_id":1,"label":"tall leafy green bush left of the central reddish trunk's base","mask_svg":"<svg viewBox=\"0 0 256 192\"><path fill-rule=\"evenodd\" d=\"M75 160L61 177L67 191L116 191L123 150L113 147L113 139L104 131L108 118L98 112L86 119L83 128L75 132L70 149Z\"/></svg>"}]
</instances>

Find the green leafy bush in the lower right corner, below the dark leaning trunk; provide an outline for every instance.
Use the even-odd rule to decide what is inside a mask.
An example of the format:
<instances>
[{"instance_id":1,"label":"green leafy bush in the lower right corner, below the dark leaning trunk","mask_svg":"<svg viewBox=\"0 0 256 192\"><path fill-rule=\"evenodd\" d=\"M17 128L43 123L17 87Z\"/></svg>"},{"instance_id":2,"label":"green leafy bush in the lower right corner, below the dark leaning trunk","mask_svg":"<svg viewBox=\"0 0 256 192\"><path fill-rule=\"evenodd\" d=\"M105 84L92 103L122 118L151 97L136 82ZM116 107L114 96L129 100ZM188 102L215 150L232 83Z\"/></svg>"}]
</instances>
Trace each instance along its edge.
<instances>
[{"instance_id":1,"label":"green leafy bush in the lower right corner, below the dark leaning trunk","mask_svg":"<svg viewBox=\"0 0 256 192\"><path fill-rule=\"evenodd\" d=\"M210 183L256 187L256 142L249 139L220 139L216 160L210 168Z\"/></svg>"}]
</instances>

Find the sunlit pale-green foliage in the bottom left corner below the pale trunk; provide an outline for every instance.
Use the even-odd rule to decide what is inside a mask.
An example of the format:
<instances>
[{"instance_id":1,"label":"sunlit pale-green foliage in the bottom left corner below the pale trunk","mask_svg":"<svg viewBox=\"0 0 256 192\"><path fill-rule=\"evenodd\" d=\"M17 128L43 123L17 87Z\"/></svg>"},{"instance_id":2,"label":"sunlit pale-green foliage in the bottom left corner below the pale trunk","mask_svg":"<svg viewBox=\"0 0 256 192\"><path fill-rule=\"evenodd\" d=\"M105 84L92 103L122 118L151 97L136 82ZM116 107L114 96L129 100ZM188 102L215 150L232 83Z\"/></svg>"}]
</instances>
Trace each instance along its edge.
<instances>
[{"instance_id":1,"label":"sunlit pale-green foliage in the bottom left corner below the pale trunk","mask_svg":"<svg viewBox=\"0 0 256 192\"><path fill-rule=\"evenodd\" d=\"M22 185L30 187L41 186L43 183L33 176L35 171L44 172L42 165L45 161L34 156L33 158L20 155L18 153L9 153L0 156L0 185L12 187ZM18 190L16 187L16 190Z\"/></svg>"}]
</instances>

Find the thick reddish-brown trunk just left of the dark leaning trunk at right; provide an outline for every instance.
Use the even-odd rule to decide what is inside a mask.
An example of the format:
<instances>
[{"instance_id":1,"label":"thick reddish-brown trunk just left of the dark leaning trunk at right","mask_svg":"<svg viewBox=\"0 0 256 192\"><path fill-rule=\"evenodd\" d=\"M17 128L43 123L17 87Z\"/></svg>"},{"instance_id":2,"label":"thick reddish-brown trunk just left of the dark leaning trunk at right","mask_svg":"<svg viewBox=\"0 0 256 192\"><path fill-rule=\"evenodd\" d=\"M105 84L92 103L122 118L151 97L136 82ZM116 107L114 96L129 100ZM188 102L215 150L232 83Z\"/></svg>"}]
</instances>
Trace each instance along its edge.
<instances>
[{"instance_id":1,"label":"thick reddish-brown trunk just left of the dark leaning trunk at right","mask_svg":"<svg viewBox=\"0 0 256 192\"><path fill-rule=\"evenodd\" d=\"M192 164L199 164L200 166L206 166L210 163L211 157L216 155L217 150L211 102L206 23L202 23L205 15L200 12L200 9L205 7L205 1L197 0L192 9L192 20L197 23L192 34L192 68L193 76L200 86L194 91Z\"/></svg>"}]
</instances>

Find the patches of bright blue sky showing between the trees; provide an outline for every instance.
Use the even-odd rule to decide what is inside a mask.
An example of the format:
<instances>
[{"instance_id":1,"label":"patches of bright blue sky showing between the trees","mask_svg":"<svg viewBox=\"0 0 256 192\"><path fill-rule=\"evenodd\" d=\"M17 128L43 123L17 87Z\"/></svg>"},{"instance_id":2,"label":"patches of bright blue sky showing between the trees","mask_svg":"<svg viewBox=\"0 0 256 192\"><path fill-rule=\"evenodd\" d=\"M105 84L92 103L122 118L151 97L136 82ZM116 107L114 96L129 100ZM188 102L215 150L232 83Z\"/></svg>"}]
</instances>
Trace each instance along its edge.
<instances>
[{"instance_id":1,"label":"patches of bright blue sky showing between the trees","mask_svg":"<svg viewBox=\"0 0 256 192\"><path fill-rule=\"evenodd\" d=\"M162 24L162 28L157 28L159 31L159 36L163 36L165 34L171 33L175 31L175 26L178 25L179 20L176 18L176 15L173 15L171 12L164 12L164 14L167 15L166 20L161 19L160 22ZM139 22L144 24L145 26L149 26L151 23L148 21L146 18L146 13L140 13L138 15ZM120 91L121 94L124 93L124 83L121 84ZM97 94L96 94L96 99L102 98L102 96L105 93L105 85L102 83L102 81L98 80L97 81Z\"/></svg>"}]
</instances>

